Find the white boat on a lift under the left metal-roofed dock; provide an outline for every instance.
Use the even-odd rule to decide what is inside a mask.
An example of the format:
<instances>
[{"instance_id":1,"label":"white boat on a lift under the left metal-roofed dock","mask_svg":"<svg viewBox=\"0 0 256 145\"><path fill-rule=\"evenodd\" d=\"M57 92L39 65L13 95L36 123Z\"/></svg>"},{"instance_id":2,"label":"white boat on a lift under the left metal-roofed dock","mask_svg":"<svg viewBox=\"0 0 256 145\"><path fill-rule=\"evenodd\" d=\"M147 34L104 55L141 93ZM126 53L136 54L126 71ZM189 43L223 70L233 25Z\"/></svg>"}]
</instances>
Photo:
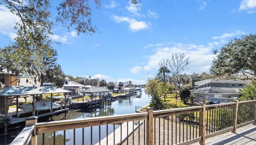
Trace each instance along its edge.
<instances>
[{"instance_id":1,"label":"white boat on a lift under the left metal-roofed dock","mask_svg":"<svg viewBox=\"0 0 256 145\"><path fill-rule=\"evenodd\" d=\"M51 101L45 101L45 100L39 100L35 103L35 111L41 111L41 110L50 110L51 109L51 103L52 103L52 109L60 108L60 104L56 104ZM23 111L31 112L33 111L33 105L27 104L27 105L19 105L18 108L20 108Z\"/></svg>"}]
</instances>

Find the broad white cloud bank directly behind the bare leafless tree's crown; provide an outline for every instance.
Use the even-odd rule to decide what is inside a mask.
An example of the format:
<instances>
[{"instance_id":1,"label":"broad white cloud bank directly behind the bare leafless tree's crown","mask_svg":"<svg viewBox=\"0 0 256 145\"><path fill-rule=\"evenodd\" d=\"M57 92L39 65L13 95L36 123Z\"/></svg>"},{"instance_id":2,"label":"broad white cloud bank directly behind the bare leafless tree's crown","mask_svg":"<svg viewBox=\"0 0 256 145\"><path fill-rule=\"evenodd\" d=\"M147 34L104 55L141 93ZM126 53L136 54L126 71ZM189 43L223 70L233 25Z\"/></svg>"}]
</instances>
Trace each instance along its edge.
<instances>
[{"instance_id":1,"label":"broad white cloud bank directly behind the bare leafless tree's crown","mask_svg":"<svg viewBox=\"0 0 256 145\"><path fill-rule=\"evenodd\" d=\"M202 73L203 71L209 70L212 64L214 57L212 54L213 45L214 43L209 43L207 46L173 43L172 47L156 48L156 52L149 57L144 70L158 70L159 62L162 61L163 58L171 57L173 53L184 53L186 57L190 57L191 63L188 72Z\"/></svg>"}]
</instances>

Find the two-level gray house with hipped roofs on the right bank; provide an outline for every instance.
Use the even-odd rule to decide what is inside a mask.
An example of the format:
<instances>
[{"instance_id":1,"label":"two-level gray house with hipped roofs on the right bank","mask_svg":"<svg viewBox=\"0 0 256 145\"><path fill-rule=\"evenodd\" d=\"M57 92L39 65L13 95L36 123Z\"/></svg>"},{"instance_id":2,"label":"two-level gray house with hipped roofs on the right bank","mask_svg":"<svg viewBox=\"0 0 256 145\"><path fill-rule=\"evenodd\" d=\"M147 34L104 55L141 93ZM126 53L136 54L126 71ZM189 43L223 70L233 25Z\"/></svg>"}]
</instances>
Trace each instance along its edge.
<instances>
[{"instance_id":1,"label":"two-level gray house with hipped roofs on the right bank","mask_svg":"<svg viewBox=\"0 0 256 145\"><path fill-rule=\"evenodd\" d=\"M194 88L190 90L194 102L201 102L202 99L213 103L232 102L239 98L239 89L246 86L245 82L236 80L190 80L190 83Z\"/></svg>"}]
</instances>

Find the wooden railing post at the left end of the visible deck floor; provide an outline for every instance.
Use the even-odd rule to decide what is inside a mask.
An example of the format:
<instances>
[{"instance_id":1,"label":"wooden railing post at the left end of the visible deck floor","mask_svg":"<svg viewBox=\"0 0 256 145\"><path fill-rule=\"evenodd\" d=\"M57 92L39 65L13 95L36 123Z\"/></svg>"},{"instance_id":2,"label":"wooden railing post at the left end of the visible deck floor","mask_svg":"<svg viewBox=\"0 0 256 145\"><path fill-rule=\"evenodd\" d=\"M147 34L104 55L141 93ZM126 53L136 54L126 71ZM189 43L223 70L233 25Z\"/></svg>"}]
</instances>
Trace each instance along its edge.
<instances>
[{"instance_id":1,"label":"wooden railing post at the left end of the visible deck floor","mask_svg":"<svg viewBox=\"0 0 256 145\"><path fill-rule=\"evenodd\" d=\"M200 106L203 107L203 110L200 111L200 127L199 127L199 136L202 137L201 141L199 141L200 145L205 145L205 114L206 114L206 104L200 103Z\"/></svg>"}]
</instances>

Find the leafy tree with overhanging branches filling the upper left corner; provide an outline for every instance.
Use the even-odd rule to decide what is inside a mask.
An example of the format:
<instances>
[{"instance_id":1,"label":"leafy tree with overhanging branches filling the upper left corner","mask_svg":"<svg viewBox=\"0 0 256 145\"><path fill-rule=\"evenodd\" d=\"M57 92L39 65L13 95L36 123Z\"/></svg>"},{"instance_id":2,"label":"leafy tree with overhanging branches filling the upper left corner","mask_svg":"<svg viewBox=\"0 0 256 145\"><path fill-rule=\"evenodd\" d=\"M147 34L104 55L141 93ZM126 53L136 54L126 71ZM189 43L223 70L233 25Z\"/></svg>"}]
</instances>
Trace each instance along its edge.
<instances>
[{"instance_id":1,"label":"leafy tree with overhanging branches filling the upper left corner","mask_svg":"<svg viewBox=\"0 0 256 145\"><path fill-rule=\"evenodd\" d=\"M101 1L93 1L96 8L100 8ZM0 49L0 71L6 68L16 76L24 72L32 75L42 72L41 69L38 70L43 66L40 63L43 59L40 53L44 46L48 45L50 48L54 43L50 38L54 24L50 16L55 10L51 2L55 3L53 0L2 0L0 2L0 6L5 6L19 17L19 22L14 26L17 37L11 45ZM137 5L140 0L131 2ZM57 12L53 12L57 14L56 22L66 26L68 30L74 27L78 34L95 33L97 27L92 25L91 4L89 0L60 1L59 6L56 7Z\"/></svg>"}]
</instances>

